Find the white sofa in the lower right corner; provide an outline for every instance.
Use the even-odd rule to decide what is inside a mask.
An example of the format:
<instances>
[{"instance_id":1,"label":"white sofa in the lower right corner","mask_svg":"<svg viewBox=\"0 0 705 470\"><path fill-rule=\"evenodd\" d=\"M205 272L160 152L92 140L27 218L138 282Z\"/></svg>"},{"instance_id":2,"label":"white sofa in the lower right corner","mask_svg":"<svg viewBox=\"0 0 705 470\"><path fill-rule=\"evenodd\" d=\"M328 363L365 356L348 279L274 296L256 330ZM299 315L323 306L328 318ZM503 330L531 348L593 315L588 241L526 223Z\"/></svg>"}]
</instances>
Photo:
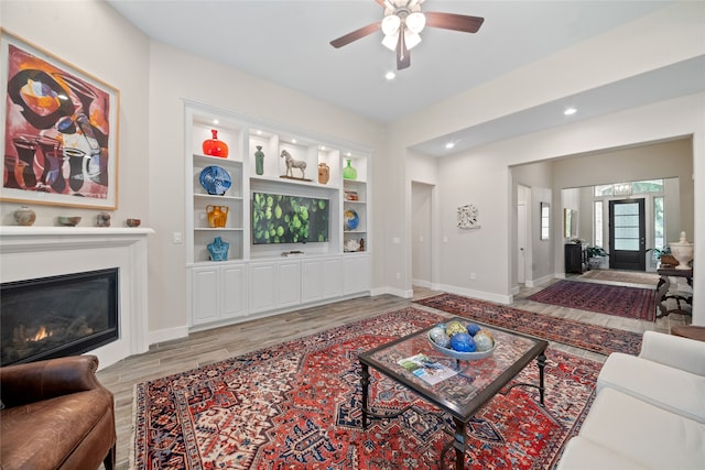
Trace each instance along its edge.
<instances>
[{"instance_id":1,"label":"white sofa in the lower right corner","mask_svg":"<svg viewBox=\"0 0 705 470\"><path fill-rule=\"evenodd\" d=\"M556 470L705 469L705 342L648 331L609 356Z\"/></svg>"}]
</instances>

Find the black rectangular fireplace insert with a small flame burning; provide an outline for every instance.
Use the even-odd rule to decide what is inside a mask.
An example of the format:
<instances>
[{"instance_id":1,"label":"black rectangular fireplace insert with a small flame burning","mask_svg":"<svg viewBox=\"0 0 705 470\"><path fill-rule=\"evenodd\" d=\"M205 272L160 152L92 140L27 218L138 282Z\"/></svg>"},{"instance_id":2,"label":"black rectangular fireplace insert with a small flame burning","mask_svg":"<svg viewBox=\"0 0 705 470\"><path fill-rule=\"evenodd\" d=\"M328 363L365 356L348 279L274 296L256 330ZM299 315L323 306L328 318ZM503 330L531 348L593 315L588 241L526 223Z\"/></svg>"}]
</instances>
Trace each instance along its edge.
<instances>
[{"instance_id":1,"label":"black rectangular fireplace insert with a small flame burning","mask_svg":"<svg viewBox=\"0 0 705 470\"><path fill-rule=\"evenodd\" d=\"M88 352L119 338L119 269L0 285L1 364Z\"/></svg>"}]
</instances>

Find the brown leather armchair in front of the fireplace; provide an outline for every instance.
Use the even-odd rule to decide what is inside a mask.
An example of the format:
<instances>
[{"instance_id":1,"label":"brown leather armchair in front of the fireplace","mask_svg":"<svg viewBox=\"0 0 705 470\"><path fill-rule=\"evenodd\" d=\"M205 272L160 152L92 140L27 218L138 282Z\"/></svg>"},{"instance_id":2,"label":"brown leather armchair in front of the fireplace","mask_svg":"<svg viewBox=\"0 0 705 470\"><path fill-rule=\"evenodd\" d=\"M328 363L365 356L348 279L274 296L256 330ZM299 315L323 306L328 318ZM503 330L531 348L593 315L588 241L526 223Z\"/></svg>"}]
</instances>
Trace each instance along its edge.
<instances>
[{"instance_id":1,"label":"brown leather armchair in front of the fireplace","mask_svg":"<svg viewBox=\"0 0 705 470\"><path fill-rule=\"evenodd\" d=\"M97 369L95 356L0 368L0 469L115 468L112 394Z\"/></svg>"}]
</instances>

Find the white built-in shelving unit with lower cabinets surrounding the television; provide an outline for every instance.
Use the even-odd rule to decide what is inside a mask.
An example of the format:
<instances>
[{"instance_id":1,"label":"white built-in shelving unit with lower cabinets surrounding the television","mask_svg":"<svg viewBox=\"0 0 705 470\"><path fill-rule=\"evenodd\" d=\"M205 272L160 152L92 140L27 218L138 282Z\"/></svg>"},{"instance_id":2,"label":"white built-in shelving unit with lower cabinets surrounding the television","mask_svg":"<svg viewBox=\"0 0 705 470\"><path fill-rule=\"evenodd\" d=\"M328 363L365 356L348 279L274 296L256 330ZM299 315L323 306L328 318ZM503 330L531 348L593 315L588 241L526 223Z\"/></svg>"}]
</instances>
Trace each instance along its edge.
<instances>
[{"instance_id":1,"label":"white built-in shelving unit with lower cabinets surrounding the television","mask_svg":"<svg viewBox=\"0 0 705 470\"><path fill-rule=\"evenodd\" d=\"M365 149L200 103L187 103L185 116L185 241L193 329L369 293L370 160ZM204 155L202 143L212 138L212 129L228 145L226 159ZM258 152L264 155L261 165ZM291 171L286 154L296 162ZM355 178L344 177L348 161ZM227 172L231 185L225 194L210 195L200 184L208 166ZM327 240L262 243L259 233L256 242L256 193L324 200ZM216 207L227 211L225 227L208 222L208 211ZM357 225L346 223L350 215ZM229 244L225 261L212 260L208 251L216 237ZM283 255L291 252L300 253Z\"/></svg>"}]
</instances>

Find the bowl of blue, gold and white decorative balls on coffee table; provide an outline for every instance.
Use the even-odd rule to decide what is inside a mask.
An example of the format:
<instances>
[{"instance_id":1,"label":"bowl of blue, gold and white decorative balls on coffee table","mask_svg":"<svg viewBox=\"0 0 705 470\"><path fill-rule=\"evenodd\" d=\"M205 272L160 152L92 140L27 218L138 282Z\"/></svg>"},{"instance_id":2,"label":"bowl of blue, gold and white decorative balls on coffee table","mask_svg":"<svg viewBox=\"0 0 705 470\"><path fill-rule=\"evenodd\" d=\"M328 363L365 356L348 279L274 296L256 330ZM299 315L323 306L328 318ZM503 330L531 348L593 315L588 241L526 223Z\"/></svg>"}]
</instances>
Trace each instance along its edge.
<instances>
[{"instance_id":1,"label":"bowl of blue, gold and white decorative balls on coffee table","mask_svg":"<svg viewBox=\"0 0 705 470\"><path fill-rule=\"evenodd\" d=\"M491 331L477 324L463 325L457 320L431 328L429 342L436 351L464 361L489 358L497 347Z\"/></svg>"}]
</instances>

